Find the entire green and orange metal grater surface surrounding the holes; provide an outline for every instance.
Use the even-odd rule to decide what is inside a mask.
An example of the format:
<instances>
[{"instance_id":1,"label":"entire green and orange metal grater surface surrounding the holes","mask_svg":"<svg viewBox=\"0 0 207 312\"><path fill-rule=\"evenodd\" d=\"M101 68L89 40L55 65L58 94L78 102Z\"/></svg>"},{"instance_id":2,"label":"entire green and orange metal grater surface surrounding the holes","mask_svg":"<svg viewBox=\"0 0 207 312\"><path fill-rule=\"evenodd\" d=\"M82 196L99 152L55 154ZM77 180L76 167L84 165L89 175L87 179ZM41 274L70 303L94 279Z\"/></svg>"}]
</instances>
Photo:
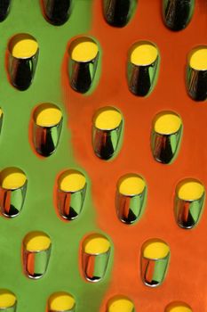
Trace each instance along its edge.
<instances>
[{"instance_id":1,"label":"entire green and orange metal grater surface surrounding the holes","mask_svg":"<svg viewBox=\"0 0 207 312\"><path fill-rule=\"evenodd\" d=\"M107 299L117 292L126 293L142 312L163 311L168 302L178 297L188 302L194 311L206 312L203 283L207 256L203 248L206 210L194 231L183 231L176 226L172 214L174 187L181 178L196 175L206 184L203 168L206 154L201 152L206 107L187 96L184 79L187 52L206 41L206 8L205 1L195 1L192 23L175 34L163 25L161 1L151 1L150 5L139 1L136 15L120 30L108 27L100 1L76 0L71 19L61 28L44 20L38 1L12 1L10 14L0 25L3 58L0 96L6 117L0 137L1 167L14 164L23 168L29 178L29 189L27 210L20 218L13 218L11 222L0 218L3 255L0 275L2 283L17 294L20 311L44 311L49 295L63 289L76 294L78 312L86 307L89 312L105 311ZM34 34L41 43L36 79L24 93L11 87L4 70L7 42L21 31ZM101 78L97 79L99 75L95 78L99 86L93 94L84 97L68 86L68 62L63 60L68 41L80 34L97 37L104 55ZM162 70L152 96L138 101L126 87L124 64L130 45L139 38L157 43ZM115 56L112 58L112 55ZM60 103L64 114L60 148L48 159L36 157L28 143L31 111L36 103L44 101ZM126 132L119 157L113 162L104 162L92 152L91 120L100 105L111 101L118 103L123 111ZM149 146L151 121L157 111L163 110L178 111L185 127L179 159L167 167L153 160ZM52 186L62 169L75 166L87 172L92 193L89 191L86 195L80 218L64 224L54 212ZM128 228L117 220L115 209L112 213L115 184L123 170L141 172L149 187L147 213L137 226ZM45 229L52 237L52 244L57 246L52 250L50 274L37 283L20 270L20 242L31 227ZM115 243L114 263L109 259L107 274L101 283L84 283L78 271L77 248L85 233L98 228L110 234ZM171 245L171 267L166 283L154 290L141 283L136 257L146 235L153 237L155 233ZM194 291L192 281L195 281Z\"/></svg>"}]
</instances>

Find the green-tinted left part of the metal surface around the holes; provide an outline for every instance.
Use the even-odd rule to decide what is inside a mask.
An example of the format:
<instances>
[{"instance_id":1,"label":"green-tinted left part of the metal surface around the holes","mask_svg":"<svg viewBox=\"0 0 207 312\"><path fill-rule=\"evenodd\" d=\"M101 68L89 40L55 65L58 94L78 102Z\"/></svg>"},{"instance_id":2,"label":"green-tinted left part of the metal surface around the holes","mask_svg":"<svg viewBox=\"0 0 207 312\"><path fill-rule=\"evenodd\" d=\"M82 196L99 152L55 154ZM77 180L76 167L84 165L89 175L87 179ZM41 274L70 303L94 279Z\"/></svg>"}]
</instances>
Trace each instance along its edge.
<instances>
[{"instance_id":1,"label":"green-tinted left part of the metal surface around the holes","mask_svg":"<svg viewBox=\"0 0 207 312\"><path fill-rule=\"evenodd\" d=\"M90 35L91 26L91 0L76 0L71 17L60 27L44 20L39 1L12 0L11 12L0 24L0 106L4 111L0 168L18 167L28 177L28 192L20 216L0 218L0 288L16 294L18 312L45 311L46 301L53 291L73 294L77 312L99 311L109 282L110 269L100 283L85 282L79 272L80 242L85 234L100 232L100 229L95 222L90 180L73 157L60 84L68 41L79 34ZM10 37L25 32L36 37L40 53L32 86L20 92L8 81L5 52ZM31 113L37 104L44 102L59 105L64 116L59 148L47 159L38 158L28 141ZM88 182L84 210L79 218L69 223L57 217L52 199L55 178L66 168L81 169ZM44 231L52 239L47 273L37 281L28 279L21 267L21 242L33 230ZM111 264L112 257L110 267Z\"/></svg>"}]
</instances>

